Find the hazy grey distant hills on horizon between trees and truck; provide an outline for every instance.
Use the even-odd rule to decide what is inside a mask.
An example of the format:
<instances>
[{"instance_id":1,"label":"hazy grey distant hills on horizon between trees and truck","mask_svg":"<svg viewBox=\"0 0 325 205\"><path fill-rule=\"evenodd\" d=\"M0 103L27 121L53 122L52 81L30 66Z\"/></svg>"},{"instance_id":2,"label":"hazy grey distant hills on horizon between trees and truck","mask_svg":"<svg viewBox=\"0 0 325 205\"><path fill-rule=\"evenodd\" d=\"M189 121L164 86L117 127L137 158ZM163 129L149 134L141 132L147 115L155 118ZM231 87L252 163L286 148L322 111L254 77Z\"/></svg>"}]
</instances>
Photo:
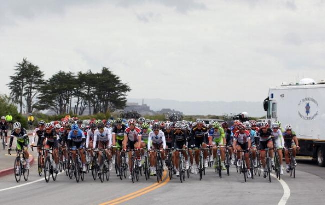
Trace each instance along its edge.
<instances>
[{"instance_id":1,"label":"hazy grey distant hills on horizon between trees and truck","mask_svg":"<svg viewBox=\"0 0 325 205\"><path fill-rule=\"evenodd\" d=\"M129 98L128 102L137 102L142 104L142 99ZM247 111L250 116L261 117L266 115L263 109L263 102L183 102L165 99L144 99L151 110L158 111L163 108L175 109L183 112L185 115L223 115L238 114Z\"/></svg>"}]
</instances>

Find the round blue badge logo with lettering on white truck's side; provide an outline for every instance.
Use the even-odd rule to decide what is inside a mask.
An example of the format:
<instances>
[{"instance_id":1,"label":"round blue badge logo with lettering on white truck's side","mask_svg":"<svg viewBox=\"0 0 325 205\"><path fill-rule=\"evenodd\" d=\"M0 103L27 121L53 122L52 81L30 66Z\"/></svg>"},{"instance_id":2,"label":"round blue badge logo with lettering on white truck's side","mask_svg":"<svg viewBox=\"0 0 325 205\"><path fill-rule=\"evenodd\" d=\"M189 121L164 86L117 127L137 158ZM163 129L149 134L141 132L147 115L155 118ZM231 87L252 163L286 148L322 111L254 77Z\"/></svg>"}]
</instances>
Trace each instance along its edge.
<instances>
[{"instance_id":1,"label":"round blue badge logo with lettering on white truck's side","mask_svg":"<svg viewBox=\"0 0 325 205\"><path fill-rule=\"evenodd\" d=\"M298 109L299 117L303 120L313 120L319 114L319 112L317 111L318 102L314 98L305 97L301 99L298 104L298 107L299 107Z\"/></svg>"}]
</instances>

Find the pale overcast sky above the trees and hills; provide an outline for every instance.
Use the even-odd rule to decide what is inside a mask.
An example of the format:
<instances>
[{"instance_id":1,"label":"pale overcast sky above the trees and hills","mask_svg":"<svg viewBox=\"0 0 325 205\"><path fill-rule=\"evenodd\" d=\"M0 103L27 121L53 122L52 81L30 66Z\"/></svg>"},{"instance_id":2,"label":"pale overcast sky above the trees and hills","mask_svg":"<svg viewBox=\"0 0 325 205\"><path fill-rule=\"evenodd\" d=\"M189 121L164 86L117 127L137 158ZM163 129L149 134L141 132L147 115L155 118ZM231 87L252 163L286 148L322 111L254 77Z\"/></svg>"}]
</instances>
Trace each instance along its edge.
<instances>
[{"instance_id":1,"label":"pale overcast sky above the trees and hills","mask_svg":"<svg viewBox=\"0 0 325 205\"><path fill-rule=\"evenodd\" d=\"M23 57L46 79L109 67L129 98L262 101L325 79L325 0L0 1L0 93Z\"/></svg>"}]
</instances>

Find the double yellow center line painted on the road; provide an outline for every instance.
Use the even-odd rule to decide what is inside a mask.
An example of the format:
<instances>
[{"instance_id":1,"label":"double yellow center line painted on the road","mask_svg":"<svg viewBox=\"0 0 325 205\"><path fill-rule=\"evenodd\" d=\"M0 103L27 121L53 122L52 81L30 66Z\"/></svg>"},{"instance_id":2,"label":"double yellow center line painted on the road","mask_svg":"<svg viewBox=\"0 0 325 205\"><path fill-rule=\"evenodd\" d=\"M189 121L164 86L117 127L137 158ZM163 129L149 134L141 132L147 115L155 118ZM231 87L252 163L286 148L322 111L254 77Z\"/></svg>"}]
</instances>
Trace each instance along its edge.
<instances>
[{"instance_id":1,"label":"double yellow center line painted on the road","mask_svg":"<svg viewBox=\"0 0 325 205\"><path fill-rule=\"evenodd\" d=\"M122 197L119 197L119 198L116 198L116 199L113 199L113 200L110 200L110 201L107 201L104 203L100 203L99 205L119 204L119 203L128 201L130 199L136 198L136 197L144 195L150 191L153 191L153 190L165 185L166 183L168 183L168 181L169 181L169 177L167 176L167 171L164 171L162 183L155 182L154 184L152 184L148 187L142 188L140 190L137 190L137 191L127 194L125 196L122 196Z\"/></svg>"}]
</instances>

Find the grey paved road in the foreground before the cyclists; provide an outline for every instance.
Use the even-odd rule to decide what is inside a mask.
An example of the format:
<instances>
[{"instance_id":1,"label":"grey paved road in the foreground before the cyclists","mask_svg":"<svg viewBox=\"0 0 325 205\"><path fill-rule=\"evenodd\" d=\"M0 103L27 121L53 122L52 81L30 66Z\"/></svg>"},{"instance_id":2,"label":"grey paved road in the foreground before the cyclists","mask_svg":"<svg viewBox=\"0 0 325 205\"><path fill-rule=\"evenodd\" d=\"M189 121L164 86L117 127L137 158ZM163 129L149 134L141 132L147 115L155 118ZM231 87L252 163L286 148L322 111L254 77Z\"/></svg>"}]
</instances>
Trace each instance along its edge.
<instances>
[{"instance_id":1,"label":"grey paved road in the foreground before the cyclists","mask_svg":"<svg viewBox=\"0 0 325 205\"><path fill-rule=\"evenodd\" d=\"M285 188L286 196L290 193L287 204L323 204L325 189L325 168L305 159L298 160L296 178L285 174L282 183L275 178L269 183L262 177L248 179L245 183L243 176L236 173L234 168L231 168L230 176L223 175L222 179L211 168L202 181L199 181L198 175L191 175L183 183L179 178L170 181L167 175L165 178L157 184L155 177L145 181L142 176L139 182L133 184L129 179L120 180L111 172L110 180L104 183L98 179L94 181L91 174L86 175L84 181L76 183L74 178L70 180L63 172L56 181L51 179L46 183L44 177L38 176L34 165L30 169L28 182L16 183L13 175L0 178L0 204L215 204L217 201L228 204L277 204L286 201L281 200L283 186L288 187Z\"/></svg>"}]
</instances>

